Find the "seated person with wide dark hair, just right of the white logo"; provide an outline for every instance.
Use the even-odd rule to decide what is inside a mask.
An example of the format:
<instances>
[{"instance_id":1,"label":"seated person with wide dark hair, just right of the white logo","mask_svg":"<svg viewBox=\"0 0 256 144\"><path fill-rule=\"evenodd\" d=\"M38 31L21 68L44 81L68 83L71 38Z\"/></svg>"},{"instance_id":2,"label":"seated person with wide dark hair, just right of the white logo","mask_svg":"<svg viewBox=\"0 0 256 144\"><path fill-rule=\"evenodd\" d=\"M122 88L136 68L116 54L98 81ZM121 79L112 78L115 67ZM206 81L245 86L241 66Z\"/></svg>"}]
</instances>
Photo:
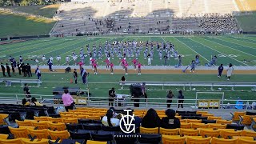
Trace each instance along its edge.
<instances>
[{"instance_id":1,"label":"seated person with wide dark hair, just right of the white logo","mask_svg":"<svg viewBox=\"0 0 256 144\"><path fill-rule=\"evenodd\" d=\"M161 119L158 117L154 109L147 110L146 115L142 118L142 127L154 128L161 124Z\"/></svg>"}]
</instances>

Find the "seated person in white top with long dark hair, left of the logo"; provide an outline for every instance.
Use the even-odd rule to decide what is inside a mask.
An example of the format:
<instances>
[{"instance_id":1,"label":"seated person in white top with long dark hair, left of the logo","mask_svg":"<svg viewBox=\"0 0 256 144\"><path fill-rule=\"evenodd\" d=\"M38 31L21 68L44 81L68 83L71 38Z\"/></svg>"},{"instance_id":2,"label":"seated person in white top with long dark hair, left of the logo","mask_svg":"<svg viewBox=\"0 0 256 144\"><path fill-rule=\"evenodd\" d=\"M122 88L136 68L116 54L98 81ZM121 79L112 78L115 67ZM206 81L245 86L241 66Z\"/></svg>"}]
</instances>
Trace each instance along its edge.
<instances>
[{"instance_id":1,"label":"seated person in white top with long dark hair, left of the logo","mask_svg":"<svg viewBox=\"0 0 256 144\"><path fill-rule=\"evenodd\" d=\"M104 126L119 126L120 120L118 118L113 118L114 111L112 109L107 110L106 116L102 118L102 124Z\"/></svg>"}]
</instances>

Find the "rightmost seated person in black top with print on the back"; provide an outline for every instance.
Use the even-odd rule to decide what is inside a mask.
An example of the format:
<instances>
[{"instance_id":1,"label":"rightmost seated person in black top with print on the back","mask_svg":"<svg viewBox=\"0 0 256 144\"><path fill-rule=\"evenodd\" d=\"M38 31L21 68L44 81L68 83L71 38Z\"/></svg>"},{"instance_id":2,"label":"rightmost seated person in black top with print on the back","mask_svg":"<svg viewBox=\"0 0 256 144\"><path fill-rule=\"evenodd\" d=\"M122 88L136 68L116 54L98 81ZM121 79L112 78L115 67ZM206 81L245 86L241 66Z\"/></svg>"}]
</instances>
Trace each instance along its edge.
<instances>
[{"instance_id":1,"label":"rightmost seated person in black top with print on the back","mask_svg":"<svg viewBox=\"0 0 256 144\"><path fill-rule=\"evenodd\" d=\"M178 118L175 118L175 110L166 110L167 117L162 118L161 127L165 129L176 129L181 127L181 122Z\"/></svg>"}]
</instances>

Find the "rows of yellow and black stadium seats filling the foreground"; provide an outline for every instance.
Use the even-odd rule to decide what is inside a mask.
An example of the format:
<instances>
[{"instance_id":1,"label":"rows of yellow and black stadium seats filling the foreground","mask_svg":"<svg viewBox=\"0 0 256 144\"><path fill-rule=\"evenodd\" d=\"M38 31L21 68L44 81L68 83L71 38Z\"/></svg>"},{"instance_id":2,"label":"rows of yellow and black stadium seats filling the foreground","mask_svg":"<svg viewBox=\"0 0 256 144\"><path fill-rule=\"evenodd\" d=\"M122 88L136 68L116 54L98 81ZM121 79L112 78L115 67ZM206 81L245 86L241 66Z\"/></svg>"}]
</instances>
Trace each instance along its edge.
<instances>
[{"instance_id":1,"label":"rows of yellow and black stadium seats filling the foreground","mask_svg":"<svg viewBox=\"0 0 256 144\"><path fill-rule=\"evenodd\" d=\"M57 139L58 142L82 139L78 142L120 143L123 140L114 136L124 134L119 126L102 125L101 118L106 114L106 108L78 107L76 110L55 114L53 107L28 106L27 108L31 111L42 110L42 112L21 119L18 114L24 112L24 110L22 111L24 106L4 106L8 110L15 109L17 114L8 111L2 111L2 114L0 114L2 120L0 143L48 143L55 142ZM45 113L46 111L48 113ZM146 112L147 110L134 110L134 114L140 118L143 118ZM156 112L160 118L166 117L165 110L156 110ZM30 115L30 111L26 111L27 114ZM60 118L50 117L50 114ZM242 118L245 118L246 114L250 118L256 117L256 114L252 112L234 113L235 116L238 114ZM244 115L241 116L241 114ZM255 142L256 132L254 130L245 130L245 125L222 119L222 117L215 117L214 114L209 114L207 111L176 111L175 117L180 119L181 128L164 129L162 127L145 128L140 126L138 133L140 137L124 139L126 139L126 142L162 142L170 144L184 142ZM10 118L10 122L6 121L8 118ZM250 125L251 123L246 124Z\"/></svg>"}]
</instances>

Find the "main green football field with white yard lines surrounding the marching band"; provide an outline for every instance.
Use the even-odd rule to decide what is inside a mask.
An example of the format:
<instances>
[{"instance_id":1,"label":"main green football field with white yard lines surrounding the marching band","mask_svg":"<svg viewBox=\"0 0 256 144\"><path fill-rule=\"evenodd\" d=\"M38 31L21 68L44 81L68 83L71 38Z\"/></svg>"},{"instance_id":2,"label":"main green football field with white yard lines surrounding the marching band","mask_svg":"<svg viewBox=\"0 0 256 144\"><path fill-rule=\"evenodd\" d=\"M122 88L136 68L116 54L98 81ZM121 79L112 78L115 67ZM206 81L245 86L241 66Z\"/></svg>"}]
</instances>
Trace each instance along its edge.
<instances>
[{"instance_id":1,"label":"main green football field with white yard lines surrounding the marching band","mask_svg":"<svg viewBox=\"0 0 256 144\"><path fill-rule=\"evenodd\" d=\"M199 54L201 65L204 66L206 62L209 62L214 55L218 56L217 64L224 64L227 66L230 62L234 66L255 66L256 65L256 36L254 35L223 35L223 36L122 36L122 37L72 37L72 38L40 38L36 40L29 40L27 42L18 42L14 44L0 46L2 61L6 61L9 55L18 59L22 55L23 59L38 58L39 65L42 65L42 55L45 54L46 58L50 56L54 57L56 65L56 56L60 55L62 61L60 65L65 65L66 56L71 56L73 50L78 54L81 46L85 47L95 43L98 46L99 43L106 41L149 41L149 42L172 42L175 49L179 54L182 54L182 64L188 65L191 60L194 59L196 54ZM145 46L143 47L143 50ZM105 59L105 55L102 59L98 59L98 65L104 65L102 62ZM131 60L132 58L128 58ZM70 57L70 60L72 58ZM147 61L143 58L143 52L141 52L140 58L138 58L142 64L146 65ZM246 61L244 61L246 60ZM114 57L114 65L119 65L119 58ZM152 65L162 66L163 58L160 60L156 46L154 45L154 59ZM33 60L28 60L32 65L35 63ZM70 62L74 63L74 62ZM170 58L168 65L174 66L178 63L174 57ZM86 65L89 64L89 57L86 58Z\"/></svg>"}]
</instances>

